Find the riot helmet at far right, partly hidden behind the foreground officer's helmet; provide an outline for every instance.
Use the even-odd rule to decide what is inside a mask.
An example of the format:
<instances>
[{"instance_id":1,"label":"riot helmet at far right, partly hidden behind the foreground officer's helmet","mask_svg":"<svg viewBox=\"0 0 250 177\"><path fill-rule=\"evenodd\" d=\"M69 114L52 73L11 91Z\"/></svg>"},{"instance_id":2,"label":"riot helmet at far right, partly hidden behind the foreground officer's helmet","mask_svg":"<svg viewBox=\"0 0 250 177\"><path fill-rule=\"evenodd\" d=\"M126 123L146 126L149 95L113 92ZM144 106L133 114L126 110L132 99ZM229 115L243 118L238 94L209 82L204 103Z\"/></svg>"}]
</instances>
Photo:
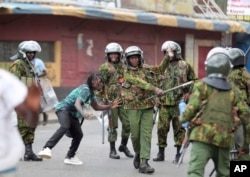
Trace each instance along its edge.
<instances>
[{"instance_id":1,"label":"riot helmet at far right, partly hidden behind the foreground officer's helmet","mask_svg":"<svg viewBox=\"0 0 250 177\"><path fill-rule=\"evenodd\" d=\"M239 48L227 48L230 61L233 67L244 67L246 65L246 56L244 52Z\"/></svg>"}]
</instances>

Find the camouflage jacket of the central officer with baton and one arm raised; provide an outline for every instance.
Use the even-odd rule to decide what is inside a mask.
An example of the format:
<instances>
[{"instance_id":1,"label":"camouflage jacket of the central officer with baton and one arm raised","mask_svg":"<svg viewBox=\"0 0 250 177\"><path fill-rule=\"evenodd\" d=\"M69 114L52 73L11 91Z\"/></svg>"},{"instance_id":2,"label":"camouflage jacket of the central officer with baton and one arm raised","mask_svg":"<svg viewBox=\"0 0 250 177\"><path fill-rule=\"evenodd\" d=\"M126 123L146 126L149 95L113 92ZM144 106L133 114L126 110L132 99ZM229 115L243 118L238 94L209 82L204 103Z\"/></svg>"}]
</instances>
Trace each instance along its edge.
<instances>
[{"instance_id":1,"label":"camouflage jacket of the central officer with baton and one arm raised","mask_svg":"<svg viewBox=\"0 0 250 177\"><path fill-rule=\"evenodd\" d=\"M167 67L168 57L165 57L159 66L143 65L142 67L129 67L124 70L125 83L122 86L122 99L125 109L148 109L154 107L155 99L148 97L155 95L157 77Z\"/></svg>"}]
</instances>

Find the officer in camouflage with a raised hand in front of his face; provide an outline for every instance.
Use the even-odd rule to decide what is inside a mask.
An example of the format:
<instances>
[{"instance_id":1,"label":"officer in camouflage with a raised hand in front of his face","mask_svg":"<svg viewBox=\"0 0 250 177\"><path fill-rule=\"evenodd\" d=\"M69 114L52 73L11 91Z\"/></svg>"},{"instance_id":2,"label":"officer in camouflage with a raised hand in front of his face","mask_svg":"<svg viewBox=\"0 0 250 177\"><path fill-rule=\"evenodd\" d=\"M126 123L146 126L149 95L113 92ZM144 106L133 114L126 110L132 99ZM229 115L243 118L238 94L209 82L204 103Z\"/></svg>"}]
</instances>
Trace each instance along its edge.
<instances>
[{"instance_id":1,"label":"officer in camouflage with a raised hand in front of his face","mask_svg":"<svg viewBox=\"0 0 250 177\"><path fill-rule=\"evenodd\" d=\"M165 70L162 86L163 90L171 89L175 86L184 84L195 79L193 68L181 57L181 47L174 41L166 41L162 44L161 50L164 54L171 56L170 63ZM180 128L179 123L179 102L182 98L187 101L189 96L188 87L174 90L161 97L159 109L159 120L157 127L159 152L153 159L154 161L164 161L164 150L167 146L167 135L172 121L174 131L174 141L177 153L173 163L177 163L180 157L181 144L185 135L185 130Z\"/></svg>"}]
</instances>

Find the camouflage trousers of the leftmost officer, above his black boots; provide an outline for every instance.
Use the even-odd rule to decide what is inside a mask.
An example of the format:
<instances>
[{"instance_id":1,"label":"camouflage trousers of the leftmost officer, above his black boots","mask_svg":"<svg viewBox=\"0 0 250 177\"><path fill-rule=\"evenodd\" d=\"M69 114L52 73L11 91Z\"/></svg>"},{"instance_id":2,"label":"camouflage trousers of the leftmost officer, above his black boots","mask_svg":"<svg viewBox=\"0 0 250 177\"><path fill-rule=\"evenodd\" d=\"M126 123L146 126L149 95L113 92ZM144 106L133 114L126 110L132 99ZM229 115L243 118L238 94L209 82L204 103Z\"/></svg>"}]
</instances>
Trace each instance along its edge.
<instances>
[{"instance_id":1,"label":"camouflage trousers of the leftmost officer, above his black boots","mask_svg":"<svg viewBox=\"0 0 250 177\"><path fill-rule=\"evenodd\" d=\"M18 118L18 130L21 134L24 144L31 144L34 142L35 128L30 128L27 123Z\"/></svg>"}]
</instances>

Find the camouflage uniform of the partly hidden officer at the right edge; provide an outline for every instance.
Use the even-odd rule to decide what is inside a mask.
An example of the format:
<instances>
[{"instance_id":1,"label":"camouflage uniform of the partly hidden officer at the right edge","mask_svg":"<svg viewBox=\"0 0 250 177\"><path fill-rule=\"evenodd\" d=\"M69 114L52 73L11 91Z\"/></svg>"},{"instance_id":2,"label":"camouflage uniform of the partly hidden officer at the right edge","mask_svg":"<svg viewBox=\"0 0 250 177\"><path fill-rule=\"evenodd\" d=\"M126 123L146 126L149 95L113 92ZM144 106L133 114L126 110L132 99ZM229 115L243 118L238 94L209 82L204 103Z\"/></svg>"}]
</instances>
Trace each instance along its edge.
<instances>
[{"instance_id":1,"label":"camouflage uniform of the partly hidden officer at the right edge","mask_svg":"<svg viewBox=\"0 0 250 177\"><path fill-rule=\"evenodd\" d=\"M245 67L235 68L231 71L229 77L229 81L238 87L241 91L242 97L244 101L250 106L250 75L247 72ZM240 146L242 147L242 128L239 127L235 132L235 142L236 148L238 149ZM245 145L246 147L248 145ZM241 154L238 157L238 160L250 160L249 148L245 148L244 154ZM248 150L247 150L248 149Z\"/></svg>"}]
</instances>

